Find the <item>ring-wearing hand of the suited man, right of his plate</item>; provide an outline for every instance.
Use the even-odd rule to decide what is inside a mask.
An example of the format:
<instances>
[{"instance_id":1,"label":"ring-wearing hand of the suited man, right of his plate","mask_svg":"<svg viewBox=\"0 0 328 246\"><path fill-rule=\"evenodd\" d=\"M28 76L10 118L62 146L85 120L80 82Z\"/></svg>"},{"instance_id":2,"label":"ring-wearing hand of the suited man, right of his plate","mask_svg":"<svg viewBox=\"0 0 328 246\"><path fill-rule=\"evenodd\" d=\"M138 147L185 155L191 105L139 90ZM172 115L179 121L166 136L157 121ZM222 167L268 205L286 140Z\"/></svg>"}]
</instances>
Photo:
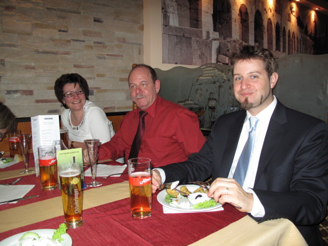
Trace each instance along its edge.
<instances>
[{"instance_id":1,"label":"ring-wearing hand of the suited man, right of his plate","mask_svg":"<svg viewBox=\"0 0 328 246\"><path fill-rule=\"evenodd\" d=\"M215 179L208 196L221 204L230 203L241 212L250 212L253 208L253 194L245 192L233 178Z\"/></svg>"}]
</instances>

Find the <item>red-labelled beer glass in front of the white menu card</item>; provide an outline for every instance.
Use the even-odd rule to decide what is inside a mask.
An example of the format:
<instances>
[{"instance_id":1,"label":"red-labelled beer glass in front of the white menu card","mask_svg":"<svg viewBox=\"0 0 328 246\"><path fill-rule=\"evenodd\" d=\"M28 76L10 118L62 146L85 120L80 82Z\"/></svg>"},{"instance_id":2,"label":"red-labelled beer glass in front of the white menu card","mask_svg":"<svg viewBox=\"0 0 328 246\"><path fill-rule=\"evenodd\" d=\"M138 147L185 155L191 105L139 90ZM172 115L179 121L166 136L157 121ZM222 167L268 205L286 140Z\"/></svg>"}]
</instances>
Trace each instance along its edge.
<instances>
[{"instance_id":1,"label":"red-labelled beer glass in front of the white menu card","mask_svg":"<svg viewBox=\"0 0 328 246\"><path fill-rule=\"evenodd\" d=\"M46 191L58 187L57 159L55 146L43 145L37 148L39 157L40 185Z\"/></svg>"}]
</instances>

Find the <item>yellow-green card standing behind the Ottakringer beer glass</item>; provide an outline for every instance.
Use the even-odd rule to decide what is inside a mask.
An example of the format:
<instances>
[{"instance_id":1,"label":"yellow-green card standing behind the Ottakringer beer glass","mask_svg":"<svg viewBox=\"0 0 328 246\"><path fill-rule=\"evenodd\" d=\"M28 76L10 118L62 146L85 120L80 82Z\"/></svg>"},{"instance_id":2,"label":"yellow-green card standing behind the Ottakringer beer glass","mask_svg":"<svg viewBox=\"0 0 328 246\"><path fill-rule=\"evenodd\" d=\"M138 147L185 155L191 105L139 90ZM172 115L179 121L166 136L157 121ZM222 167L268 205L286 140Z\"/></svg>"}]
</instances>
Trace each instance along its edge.
<instances>
[{"instance_id":1,"label":"yellow-green card standing behind the Ottakringer beer glass","mask_svg":"<svg viewBox=\"0 0 328 246\"><path fill-rule=\"evenodd\" d=\"M57 150L57 167L67 163L77 163L81 167L81 186L82 189L86 189L84 182L84 172L83 172L83 152L82 148L70 149L70 150ZM58 173L59 180L59 173ZM58 182L58 188L60 190L60 182Z\"/></svg>"}]
</instances>

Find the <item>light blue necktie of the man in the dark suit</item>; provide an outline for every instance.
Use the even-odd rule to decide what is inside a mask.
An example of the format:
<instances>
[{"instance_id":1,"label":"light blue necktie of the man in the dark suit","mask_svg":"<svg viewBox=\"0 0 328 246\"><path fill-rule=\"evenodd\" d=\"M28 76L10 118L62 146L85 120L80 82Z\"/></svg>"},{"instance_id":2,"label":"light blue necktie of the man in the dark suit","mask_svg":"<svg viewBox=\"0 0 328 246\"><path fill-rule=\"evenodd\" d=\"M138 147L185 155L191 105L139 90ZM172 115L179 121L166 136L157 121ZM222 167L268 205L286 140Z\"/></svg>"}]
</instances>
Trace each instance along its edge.
<instances>
[{"instance_id":1,"label":"light blue necktie of the man in the dark suit","mask_svg":"<svg viewBox=\"0 0 328 246\"><path fill-rule=\"evenodd\" d=\"M234 173L233 178L239 183L239 185L242 187L248 167L250 165L250 160L253 152L253 147L254 147L254 141L255 141L255 131L256 131L256 126L258 122L258 118L256 117L250 117L250 131L248 135L248 139L246 141L246 144L240 154L237 167Z\"/></svg>"}]
</instances>

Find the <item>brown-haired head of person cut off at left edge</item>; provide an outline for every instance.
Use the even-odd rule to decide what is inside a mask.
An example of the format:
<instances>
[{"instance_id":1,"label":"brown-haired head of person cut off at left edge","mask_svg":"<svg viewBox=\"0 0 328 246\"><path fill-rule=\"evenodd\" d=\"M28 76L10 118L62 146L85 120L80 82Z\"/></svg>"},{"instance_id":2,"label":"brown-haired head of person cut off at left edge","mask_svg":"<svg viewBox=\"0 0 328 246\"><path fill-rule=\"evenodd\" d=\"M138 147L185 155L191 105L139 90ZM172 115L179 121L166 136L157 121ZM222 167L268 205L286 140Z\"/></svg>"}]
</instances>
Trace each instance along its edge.
<instances>
[{"instance_id":1,"label":"brown-haired head of person cut off at left edge","mask_svg":"<svg viewBox=\"0 0 328 246\"><path fill-rule=\"evenodd\" d=\"M15 115L0 101L0 142L8 132L16 130L17 122Z\"/></svg>"}]
</instances>

